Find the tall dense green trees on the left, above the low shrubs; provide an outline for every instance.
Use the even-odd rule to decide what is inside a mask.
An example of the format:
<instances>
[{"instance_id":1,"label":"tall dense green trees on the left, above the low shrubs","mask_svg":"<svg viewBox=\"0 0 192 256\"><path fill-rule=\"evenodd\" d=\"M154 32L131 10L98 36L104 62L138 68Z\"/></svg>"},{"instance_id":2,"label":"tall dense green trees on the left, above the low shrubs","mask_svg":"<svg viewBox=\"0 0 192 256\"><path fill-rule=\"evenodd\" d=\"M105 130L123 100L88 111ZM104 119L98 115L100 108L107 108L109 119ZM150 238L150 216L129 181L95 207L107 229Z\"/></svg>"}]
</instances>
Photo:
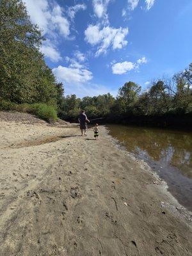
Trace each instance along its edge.
<instances>
[{"instance_id":1,"label":"tall dense green trees on the left, above the low shrubs","mask_svg":"<svg viewBox=\"0 0 192 256\"><path fill-rule=\"evenodd\" d=\"M17 104L60 104L63 92L39 51L42 33L22 0L0 1L0 97ZM61 84L60 84L61 87Z\"/></svg>"}]
</instances>

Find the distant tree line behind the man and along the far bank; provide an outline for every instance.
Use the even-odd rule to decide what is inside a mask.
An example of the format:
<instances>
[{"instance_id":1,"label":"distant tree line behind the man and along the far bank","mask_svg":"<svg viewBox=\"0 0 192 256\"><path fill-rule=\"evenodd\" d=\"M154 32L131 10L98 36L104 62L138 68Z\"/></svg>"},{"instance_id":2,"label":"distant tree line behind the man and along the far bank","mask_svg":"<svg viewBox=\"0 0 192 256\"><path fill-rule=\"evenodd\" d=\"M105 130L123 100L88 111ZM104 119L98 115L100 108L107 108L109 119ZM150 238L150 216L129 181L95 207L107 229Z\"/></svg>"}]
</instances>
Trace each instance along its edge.
<instances>
[{"instance_id":1,"label":"distant tree line behind the man and along the far bank","mask_svg":"<svg viewBox=\"0 0 192 256\"><path fill-rule=\"evenodd\" d=\"M125 116L185 115L192 113L192 63L171 79L152 81L145 92L141 86L129 81L118 90L117 97L110 93L83 97L68 95L63 100L60 116L76 120L79 109L90 118Z\"/></svg>"}]
</instances>

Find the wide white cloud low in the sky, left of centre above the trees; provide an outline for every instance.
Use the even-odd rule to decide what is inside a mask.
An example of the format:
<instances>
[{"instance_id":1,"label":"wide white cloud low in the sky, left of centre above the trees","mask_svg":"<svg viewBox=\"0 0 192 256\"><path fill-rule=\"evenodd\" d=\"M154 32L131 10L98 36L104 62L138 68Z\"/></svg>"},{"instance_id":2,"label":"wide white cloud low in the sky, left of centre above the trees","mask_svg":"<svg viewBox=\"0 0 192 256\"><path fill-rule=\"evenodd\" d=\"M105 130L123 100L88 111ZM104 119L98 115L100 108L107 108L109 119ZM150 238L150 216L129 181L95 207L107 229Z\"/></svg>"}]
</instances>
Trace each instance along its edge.
<instances>
[{"instance_id":1,"label":"wide white cloud low in the sky, left of centre above the trees","mask_svg":"<svg viewBox=\"0 0 192 256\"><path fill-rule=\"evenodd\" d=\"M73 65L71 67L63 67L60 65L57 68L53 68L52 72L57 77L58 81L64 84L82 84L93 78L92 72L82 68L81 65L80 67Z\"/></svg>"}]
</instances>

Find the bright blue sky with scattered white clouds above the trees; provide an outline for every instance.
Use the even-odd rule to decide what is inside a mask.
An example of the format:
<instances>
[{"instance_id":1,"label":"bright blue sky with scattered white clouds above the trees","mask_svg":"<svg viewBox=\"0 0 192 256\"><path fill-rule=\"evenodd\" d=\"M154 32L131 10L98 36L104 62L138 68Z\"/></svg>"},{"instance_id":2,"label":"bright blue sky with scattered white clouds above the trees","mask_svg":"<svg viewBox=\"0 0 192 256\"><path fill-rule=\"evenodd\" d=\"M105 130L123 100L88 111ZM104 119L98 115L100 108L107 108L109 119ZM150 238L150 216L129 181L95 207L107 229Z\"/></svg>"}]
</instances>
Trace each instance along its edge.
<instances>
[{"instance_id":1,"label":"bright blue sky with scattered white clouds above the trees","mask_svg":"<svg viewBox=\"0 0 192 256\"><path fill-rule=\"evenodd\" d=\"M192 62L192 0L23 0L65 95L143 90Z\"/></svg>"}]
</instances>

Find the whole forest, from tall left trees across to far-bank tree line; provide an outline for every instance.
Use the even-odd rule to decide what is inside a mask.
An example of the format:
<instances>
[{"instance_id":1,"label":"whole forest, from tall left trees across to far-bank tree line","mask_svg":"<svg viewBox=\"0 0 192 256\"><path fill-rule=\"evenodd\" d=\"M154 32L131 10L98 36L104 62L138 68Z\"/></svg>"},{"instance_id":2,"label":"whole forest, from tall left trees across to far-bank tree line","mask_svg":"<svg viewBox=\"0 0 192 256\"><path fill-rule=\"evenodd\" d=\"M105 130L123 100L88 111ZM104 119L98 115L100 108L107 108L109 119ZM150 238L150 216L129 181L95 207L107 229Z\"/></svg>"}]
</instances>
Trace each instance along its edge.
<instances>
[{"instance_id":1,"label":"whole forest, from tall left trees across to far-bank tree line","mask_svg":"<svg viewBox=\"0 0 192 256\"><path fill-rule=\"evenodd\" d=\"M79 99L64 95L63 84L47 67L40 46L45 38L21 0L0 1L0 109L27 111L76 121L79 110L109 121L130 116L191 116L192 63L170 79L152 81L148 90L132 81L110 93Z\"/></svg>"}]
</instances>

